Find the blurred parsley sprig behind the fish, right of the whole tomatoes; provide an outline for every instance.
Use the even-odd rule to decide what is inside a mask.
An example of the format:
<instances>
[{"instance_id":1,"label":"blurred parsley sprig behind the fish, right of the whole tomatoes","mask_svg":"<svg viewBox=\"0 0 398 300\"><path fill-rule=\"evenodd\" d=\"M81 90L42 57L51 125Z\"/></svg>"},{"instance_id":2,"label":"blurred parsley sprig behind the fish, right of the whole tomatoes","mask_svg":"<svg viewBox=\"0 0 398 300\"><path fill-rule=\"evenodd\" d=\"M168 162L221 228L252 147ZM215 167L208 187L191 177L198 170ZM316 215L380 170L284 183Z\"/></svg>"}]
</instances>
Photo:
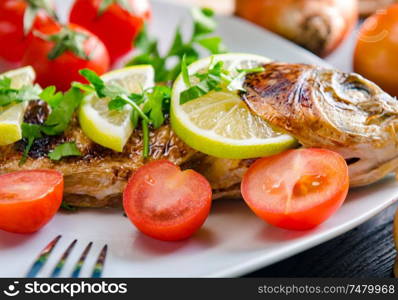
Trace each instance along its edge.
<instances>
[{"instance_id":1,"label":"blurred parsley sprig behind the fish, right of the whole tomatoes","mask_svg":"<svg viewBox=\"0 0 398 300\"><path fill-rule=\"evenodd\" d=\"M199 59L200 50L207 50L211 54L226 52L221 38L212 35L217 27L214 12L208 8L194 8L192 18L191 37L184 41L181 28L177 27L173 43L165 55L160 54L158 41L151 38L144 27L136 40L140 52L127 65L152 65L156 70L156 82L168 82L180 74L184 56L190 64Z\"/></svg>"}]
</instances>

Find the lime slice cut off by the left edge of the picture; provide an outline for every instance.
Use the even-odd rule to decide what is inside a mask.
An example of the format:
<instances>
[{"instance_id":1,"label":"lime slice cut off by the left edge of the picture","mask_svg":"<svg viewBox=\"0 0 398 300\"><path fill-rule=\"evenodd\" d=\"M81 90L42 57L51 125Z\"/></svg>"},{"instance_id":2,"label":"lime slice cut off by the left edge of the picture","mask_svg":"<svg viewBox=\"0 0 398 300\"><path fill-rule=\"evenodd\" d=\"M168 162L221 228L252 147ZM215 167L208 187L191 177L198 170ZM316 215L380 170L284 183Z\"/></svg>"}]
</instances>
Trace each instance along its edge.
<instances>
[{"instance_id":1,"label":"lime slice cut off by the left edge of the picture","mask_svg":"<svg viewBox=\"0 0 398 300\"><path fill-rule=\"evenodd\" d=\"M8 77L11 87L21 88L24 85L33 84L35 72L32 67L24 67L9 71L0 75L0 78ZM9 145L22 139L21 124L28 103L12 104L0 107L0 146Z\"/></svg>"}]
</instances>

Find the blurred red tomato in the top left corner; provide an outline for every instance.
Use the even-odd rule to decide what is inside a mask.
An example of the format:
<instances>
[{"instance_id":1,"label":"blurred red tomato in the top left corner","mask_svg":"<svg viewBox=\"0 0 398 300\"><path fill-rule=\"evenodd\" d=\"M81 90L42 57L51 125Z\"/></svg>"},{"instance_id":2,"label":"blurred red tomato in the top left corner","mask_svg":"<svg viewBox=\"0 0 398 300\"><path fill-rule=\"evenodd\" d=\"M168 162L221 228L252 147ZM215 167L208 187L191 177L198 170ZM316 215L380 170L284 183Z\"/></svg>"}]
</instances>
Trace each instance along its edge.
<instances>
[{"instance_id":1,"label":"blurred red tomato in the top left corner","mask_svg":"<svg viewBox=\"0 0 398 300\"><path fill-rule=\"evenodd\" d=\"M0 1L0 57L9 62L19 63L26 48L27 32L24 32L24 16L28 7L36 12L33 30L55 24L46 13L41 1L1 0ZM35 7L35 8L34 8ZM37 9L37 7L39 9ZM28 24L27 24L28 25Z\"/></svg>"}]
</instances>

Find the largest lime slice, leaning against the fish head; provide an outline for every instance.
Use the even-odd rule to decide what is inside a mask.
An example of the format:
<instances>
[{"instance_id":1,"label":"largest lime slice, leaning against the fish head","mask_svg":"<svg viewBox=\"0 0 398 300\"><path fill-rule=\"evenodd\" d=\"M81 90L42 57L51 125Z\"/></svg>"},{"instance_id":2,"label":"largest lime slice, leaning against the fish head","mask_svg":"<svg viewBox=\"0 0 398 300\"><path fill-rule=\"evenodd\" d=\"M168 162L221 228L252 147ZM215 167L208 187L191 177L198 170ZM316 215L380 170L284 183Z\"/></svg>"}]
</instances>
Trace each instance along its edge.
<instances>
[{"instance_id":1,"label":"largest lime slice, leaning against the fish head","mask_svg":"<svg viewBox=\"0 0 398 300\"><path fill-rule=\"evenodd\" d=\"M270 60L251 54L215 55L190 65L189 75L203 72L218 61L223 61L224 68L233 73ZM180 94L186 89L180 75L173 87L171 124L176 134L192 148L216 157L246 159L273 155L295 146L293 137L275 131L252 114L237 93L210 92L180 105Z\"/></svg>"}]
</instances>

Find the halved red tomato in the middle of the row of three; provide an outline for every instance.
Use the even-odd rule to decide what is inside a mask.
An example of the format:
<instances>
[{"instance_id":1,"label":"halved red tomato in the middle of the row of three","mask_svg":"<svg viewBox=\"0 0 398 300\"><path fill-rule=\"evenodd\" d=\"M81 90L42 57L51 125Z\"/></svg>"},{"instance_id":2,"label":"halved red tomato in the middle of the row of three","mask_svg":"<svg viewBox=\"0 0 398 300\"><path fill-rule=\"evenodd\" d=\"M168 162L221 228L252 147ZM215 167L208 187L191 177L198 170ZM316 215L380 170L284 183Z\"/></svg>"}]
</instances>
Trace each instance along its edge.
<instances>
[{"instance_id":1,"label":"halved red tomato in the middle of the row of three","mask_svg":"<svg viewBox=\"0 0 398 300\"><path fill-rule=\"evenodd\" d=\"M212 190L193 170L181 171L169 161L141 167L123 194L124 210L143 233L164 241L193 235L209 215Z\"/></svg>"}]
</instances>

